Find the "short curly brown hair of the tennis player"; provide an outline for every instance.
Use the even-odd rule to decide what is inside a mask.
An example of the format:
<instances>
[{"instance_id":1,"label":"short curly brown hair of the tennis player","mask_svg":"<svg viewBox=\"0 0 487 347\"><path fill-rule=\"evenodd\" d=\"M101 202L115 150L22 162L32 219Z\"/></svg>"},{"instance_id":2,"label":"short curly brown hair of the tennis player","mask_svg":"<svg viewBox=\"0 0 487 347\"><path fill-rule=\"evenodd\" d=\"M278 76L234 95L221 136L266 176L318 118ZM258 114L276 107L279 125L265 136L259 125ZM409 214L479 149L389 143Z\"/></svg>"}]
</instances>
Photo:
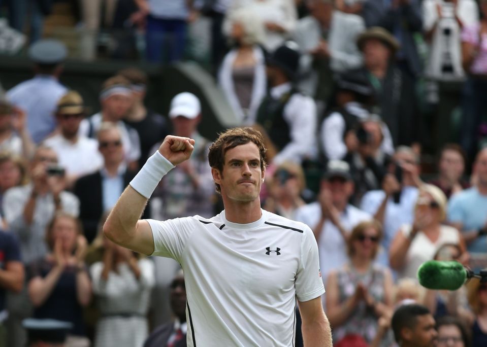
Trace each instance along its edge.
<instances>
[{"instance_id":1,"label":"short curly brown hair of the tennis player","mask_svg":"<svg viewBox=\"0 0 487 347\"><path fill-rule=\"evenodd\" d=\"M223 165L225 163L225 153L229 149L237 146L248 144L253 142L259 151L261 157L261 169L267 165L266 162L266 147L264 146L264 138L261 132L251 127L232 128L225 132L221 132L218 138L210 146L208 153L208 162L212 168L216 168L220 172L223 171ZM220 185L215 183L216 191L220 193Z\"/></svg>"}]
</instances>

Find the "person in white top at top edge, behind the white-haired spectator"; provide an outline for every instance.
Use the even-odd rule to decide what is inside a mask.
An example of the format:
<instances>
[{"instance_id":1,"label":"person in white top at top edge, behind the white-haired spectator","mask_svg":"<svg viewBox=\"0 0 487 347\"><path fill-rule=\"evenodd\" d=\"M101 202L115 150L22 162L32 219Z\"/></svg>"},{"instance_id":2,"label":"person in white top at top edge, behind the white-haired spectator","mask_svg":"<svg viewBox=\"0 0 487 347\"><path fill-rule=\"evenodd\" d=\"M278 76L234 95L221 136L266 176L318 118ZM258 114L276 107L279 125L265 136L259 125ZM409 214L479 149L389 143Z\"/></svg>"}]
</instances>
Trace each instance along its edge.
<instances>
[{"instance_id":1,"label":"person in white top at top edge, behind the white-haired spectator","mask_svg":"<svg viewBox=\"0 0 487 347\"><path fill-rule=\"evenodd\" d=\"M264 22L264 47L269 52L284 44L296 27L298 14L293 0L234 0L226 12L227 18L232 17L234 11L240 8L248 8Z\"/></svg>"}]
</instances>

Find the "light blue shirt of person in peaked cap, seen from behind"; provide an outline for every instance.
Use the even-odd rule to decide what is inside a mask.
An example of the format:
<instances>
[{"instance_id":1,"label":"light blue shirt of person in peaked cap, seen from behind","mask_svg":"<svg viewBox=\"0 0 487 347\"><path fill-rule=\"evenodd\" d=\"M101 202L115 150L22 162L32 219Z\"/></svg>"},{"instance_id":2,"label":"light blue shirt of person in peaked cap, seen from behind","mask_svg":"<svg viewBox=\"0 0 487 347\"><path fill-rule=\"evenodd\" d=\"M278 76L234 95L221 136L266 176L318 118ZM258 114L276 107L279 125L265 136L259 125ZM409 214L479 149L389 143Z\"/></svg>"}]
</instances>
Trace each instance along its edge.
<instances>
[{"instance_id":1,"label":"light blue shirt of person in peaked cap, seen from behind","mask_svg":"<svg viewBox=\"0 0 487 347\"><path fill-rule=\"evenodd\" d=\"M27 130L36 144L55 129L57 101L67 91L54 77L37 75L7 93L9 101L27 113Z\"/></svg>"}]
</instances>

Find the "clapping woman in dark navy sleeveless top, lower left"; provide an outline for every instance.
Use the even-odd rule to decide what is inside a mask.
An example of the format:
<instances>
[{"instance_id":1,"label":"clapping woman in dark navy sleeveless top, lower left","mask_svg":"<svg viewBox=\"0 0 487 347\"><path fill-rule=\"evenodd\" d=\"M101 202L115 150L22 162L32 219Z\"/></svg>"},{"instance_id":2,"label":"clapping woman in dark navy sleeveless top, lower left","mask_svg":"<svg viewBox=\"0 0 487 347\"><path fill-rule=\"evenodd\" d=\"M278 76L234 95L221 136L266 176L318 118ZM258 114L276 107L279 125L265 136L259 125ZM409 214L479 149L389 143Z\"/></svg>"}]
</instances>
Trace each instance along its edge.
<instances>
[{"instance_id":1,"label":"clapping woman in dark navy sleeveless top, lower left","mask_svg":"<svg viewBox=\"0 0 487 347\"><path fill-rule=\"evenodd\" d=\"M49 253L31 263L29 270L34 318L70 322L72 343L89 346L82 307L91 299L91 282L84 263L86 239L81 235L81 224L76 217L59 212L46 232Z\"/></svg>"}]
</instances>

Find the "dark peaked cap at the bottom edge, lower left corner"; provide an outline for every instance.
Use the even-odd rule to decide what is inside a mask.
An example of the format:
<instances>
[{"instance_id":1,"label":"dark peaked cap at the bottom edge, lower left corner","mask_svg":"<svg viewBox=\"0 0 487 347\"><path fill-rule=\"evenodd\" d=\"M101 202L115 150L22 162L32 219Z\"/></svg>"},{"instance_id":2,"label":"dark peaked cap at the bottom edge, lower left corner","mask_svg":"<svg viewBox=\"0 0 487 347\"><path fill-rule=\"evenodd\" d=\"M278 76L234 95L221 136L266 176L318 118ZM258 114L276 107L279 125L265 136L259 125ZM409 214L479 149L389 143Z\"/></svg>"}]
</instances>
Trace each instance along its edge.
<instances>
[{"instance_id":1,"label":"dark peaked cap at the bottom edge, lower left corner","mask_svg":"<svg viewBox=\"0 0 487 347\"><path fill-rule=\"evenodd\" d=\"M37 341L66 342L68 332L73 328L73 324L70 322L36 318L24 319L22 326L27 330L30 343Z\"/></svg>"}]
</instances>

